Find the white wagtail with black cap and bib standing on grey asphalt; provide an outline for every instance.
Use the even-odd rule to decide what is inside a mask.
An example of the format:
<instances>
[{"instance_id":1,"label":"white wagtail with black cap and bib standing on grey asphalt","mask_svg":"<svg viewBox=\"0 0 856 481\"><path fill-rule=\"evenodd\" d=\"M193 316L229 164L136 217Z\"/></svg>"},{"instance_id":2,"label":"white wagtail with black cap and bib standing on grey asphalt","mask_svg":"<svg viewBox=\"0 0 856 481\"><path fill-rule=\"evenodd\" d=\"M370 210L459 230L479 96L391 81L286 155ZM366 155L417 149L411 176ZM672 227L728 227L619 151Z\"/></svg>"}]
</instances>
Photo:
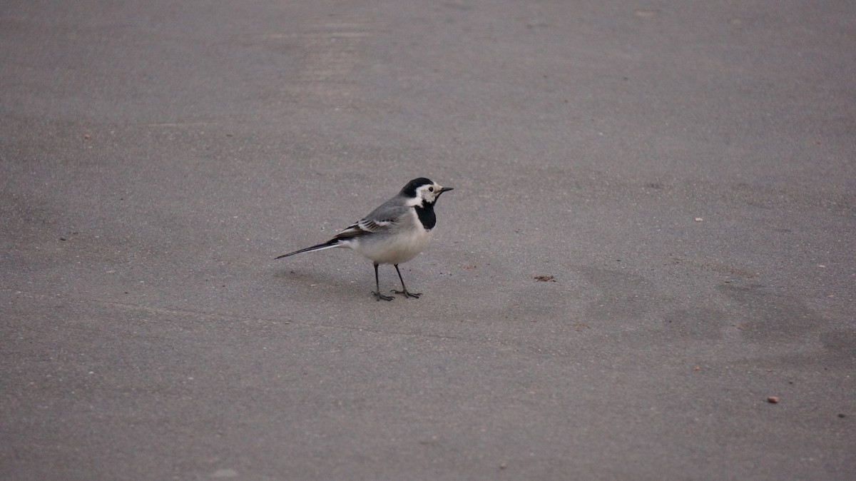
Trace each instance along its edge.
<instances>
[{"instance_id":1,"label":"white wagtail with black cap and bib standing on grey asphalt","mask_svg":"<svg viewBox=\"0 0 856 481\"><path fill-rule=\"evenodd\" d=\"M380 294L380 283L377 281L377 265L393 264L401 281L401 290L392 291L404 294L404 297L419 299L421 293L407 292L404 279L398 264L416 257L431 241L437 216L434 214L434 203L441 193L452 190L452 187L441 187L439 184L419 177L407 182L392 199L381 204L377 209L363 217L357 223L342 230L336 237L318 244L306 247L300 251L289 252L277 258L287 258L300 252L322 251L333 247L348 247L369 258L375 266L374 294L377 300L393 300L391 295Z\"/></svg>"}]
</instances>

